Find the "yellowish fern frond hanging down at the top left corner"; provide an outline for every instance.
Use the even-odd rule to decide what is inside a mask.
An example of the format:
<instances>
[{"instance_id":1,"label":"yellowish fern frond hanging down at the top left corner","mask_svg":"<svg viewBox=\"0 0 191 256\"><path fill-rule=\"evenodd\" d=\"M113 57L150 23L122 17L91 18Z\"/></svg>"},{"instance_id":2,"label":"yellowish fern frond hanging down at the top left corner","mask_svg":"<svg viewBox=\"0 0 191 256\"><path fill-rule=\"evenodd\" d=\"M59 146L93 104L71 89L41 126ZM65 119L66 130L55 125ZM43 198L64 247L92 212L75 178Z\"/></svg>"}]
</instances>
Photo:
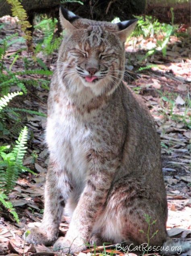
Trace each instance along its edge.
<instances>
[{"instance_id":1,"label":"yellowish fern frond hanging down at the top left corner","mask_svg":"<svg viewBox=\"0 0 191 256\"><path fill-rule=\"evenodd\" d=\"M24 38L28 41L32 40L31 31L28 30L31 26L29 21L27 21L27 13L23 8L19 0L6 0L8 4L12 6L11 11L13 16L17 16L19 19L19 24L21 25L21 30L25 33Z\"/></svg>"}]
</instances>

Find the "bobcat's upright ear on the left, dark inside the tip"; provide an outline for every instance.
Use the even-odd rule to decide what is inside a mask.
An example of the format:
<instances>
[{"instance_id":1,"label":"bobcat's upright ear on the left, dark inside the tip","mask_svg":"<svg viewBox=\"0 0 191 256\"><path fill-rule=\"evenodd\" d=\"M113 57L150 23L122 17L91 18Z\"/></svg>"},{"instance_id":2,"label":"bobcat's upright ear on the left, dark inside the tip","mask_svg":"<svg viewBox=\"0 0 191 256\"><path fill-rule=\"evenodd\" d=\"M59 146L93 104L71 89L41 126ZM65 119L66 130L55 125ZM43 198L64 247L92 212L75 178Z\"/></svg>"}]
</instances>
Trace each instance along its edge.
<instances>
[{"instance_id":1,"label":"bobcat's upright ear on the left, dark inside the tip","mask_svg":"<svg viewBox=\"0 0 191 256\"><path fill-rule=\"evenodd\" d=\"M74 25L72 25L73 21L79 19L80 17L72 13L71 11L65 9L63 6L60 7L59 10L60 15L60 24L63 29L77 29Z\"/></svg>"}]
</instances>

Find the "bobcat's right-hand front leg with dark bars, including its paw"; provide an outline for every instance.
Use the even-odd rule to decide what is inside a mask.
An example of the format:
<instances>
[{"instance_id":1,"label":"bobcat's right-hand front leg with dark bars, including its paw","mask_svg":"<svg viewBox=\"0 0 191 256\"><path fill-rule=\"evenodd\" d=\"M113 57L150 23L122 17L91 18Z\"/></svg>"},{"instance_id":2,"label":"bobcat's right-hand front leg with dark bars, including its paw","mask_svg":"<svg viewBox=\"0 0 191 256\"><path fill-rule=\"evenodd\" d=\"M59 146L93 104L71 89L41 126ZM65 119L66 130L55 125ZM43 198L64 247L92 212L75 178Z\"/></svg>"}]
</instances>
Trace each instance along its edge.
<instances>
[{"instance_id":1,"label":"bobcat's right-hand front leg with dark bars, including its paw","mask_svg":"<svg viewBox=\"0 0 191 256\"><path fill-rule=\"evenodd\" d=\"M85 249L96 217L103 209L114 172L118 166L117 157L108 159L104 153L93 151L89 155L91 169L86 185L73 213L69 230L54 244L54 250L71 253Z\"/></svg>"}]
</instances>

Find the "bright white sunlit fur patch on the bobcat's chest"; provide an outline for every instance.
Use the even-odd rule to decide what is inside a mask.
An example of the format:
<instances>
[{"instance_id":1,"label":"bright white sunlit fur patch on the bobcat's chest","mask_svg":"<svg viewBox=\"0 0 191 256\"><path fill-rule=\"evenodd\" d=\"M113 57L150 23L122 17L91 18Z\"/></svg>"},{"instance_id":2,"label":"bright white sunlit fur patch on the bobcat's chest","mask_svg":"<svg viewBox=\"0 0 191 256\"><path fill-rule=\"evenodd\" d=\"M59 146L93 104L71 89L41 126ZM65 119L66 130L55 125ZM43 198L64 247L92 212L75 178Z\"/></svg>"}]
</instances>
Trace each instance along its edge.
<instances>
[{"instance_id":1,"label":"bright white sunlit fur patch on the bobcat's chest","mask_svg":"<svg viewBox=\"0 0 191 256\"><path fill-rule=\"evenodd\" d=\"M53 157L72 173L75 180L84 180L87 173L87 151L90 147L90 130L82 121L62 111L48 118L46 141Z\"/></svg>"}]
</instances>

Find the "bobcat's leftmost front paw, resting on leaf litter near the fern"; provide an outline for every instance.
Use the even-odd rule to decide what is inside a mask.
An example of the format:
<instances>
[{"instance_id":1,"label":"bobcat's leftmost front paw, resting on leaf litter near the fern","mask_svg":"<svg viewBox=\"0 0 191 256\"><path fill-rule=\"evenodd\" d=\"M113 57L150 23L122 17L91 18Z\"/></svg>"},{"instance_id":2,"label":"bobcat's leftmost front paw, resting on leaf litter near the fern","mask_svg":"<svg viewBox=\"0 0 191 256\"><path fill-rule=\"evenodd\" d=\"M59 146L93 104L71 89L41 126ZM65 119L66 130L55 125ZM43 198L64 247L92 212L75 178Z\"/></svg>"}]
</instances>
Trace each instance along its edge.
<instances>
[{"instance_id":1,"label":"bobcat's leftmost front paw, resting on leaf litter near the fern","mask_svg":"<svg viewBox=\"0 0 191 256\"><path fill-rule=\"evenodd\" d=\"M48 246L53 243L56 239L56 236L48 236L44 230L39 228L32 228L25 231L23 235L25 241L27 243L41 244Z\"/></svg>"}]
</instances>

